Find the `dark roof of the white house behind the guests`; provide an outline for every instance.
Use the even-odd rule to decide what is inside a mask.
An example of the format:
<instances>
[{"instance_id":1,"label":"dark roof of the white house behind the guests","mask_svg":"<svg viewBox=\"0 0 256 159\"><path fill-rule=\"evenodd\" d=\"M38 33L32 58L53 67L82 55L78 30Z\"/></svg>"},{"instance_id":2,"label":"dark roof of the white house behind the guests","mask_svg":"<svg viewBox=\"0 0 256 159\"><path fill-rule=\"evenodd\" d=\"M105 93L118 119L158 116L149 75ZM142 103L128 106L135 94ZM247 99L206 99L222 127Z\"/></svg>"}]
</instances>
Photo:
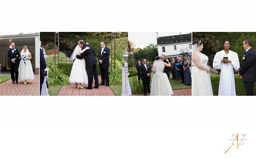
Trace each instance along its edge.
<instances>
[{"instance_id":1,"label":"dark roof of the white house behind the guests","mask_svg":"<svg viewBox=\"0 0 256 159\"><path fill-rule=\"evenodd\" d=\"M172 36L163 36L157 38L157 45L166 45L166 44L175 44L183 42L192 42L191 33L190 34L181 34L181 35L172 35Z\"/></svg>"}]
</instances>

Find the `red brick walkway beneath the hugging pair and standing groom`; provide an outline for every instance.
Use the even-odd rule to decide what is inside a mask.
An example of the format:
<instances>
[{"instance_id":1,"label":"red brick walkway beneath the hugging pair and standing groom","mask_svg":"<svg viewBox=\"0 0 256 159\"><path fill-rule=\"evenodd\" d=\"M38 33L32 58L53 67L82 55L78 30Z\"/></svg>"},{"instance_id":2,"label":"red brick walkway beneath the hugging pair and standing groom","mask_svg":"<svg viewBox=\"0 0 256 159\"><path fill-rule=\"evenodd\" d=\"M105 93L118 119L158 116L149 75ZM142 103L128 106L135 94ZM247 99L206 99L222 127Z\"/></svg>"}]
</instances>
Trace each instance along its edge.
<instances>
[{"instance_id":1,"label":"red brick walkway beneath the hugging pair and standing groom","mask_svg":"<svg viewBox=\"0 0 256 159\"><path fill-rule=\"evenodd\" d=\"M99 84L101 82L101 77L100 75L98 75L98 79L99 79ZM81 88L74 88L74 84L72 83L71 85L68 86L62 86L60 88L60 92L58 93L58 95L115 95L112 90L110 89L110 87L106 87L106 86L99 86L99 89L97 88L92 88L92 89L85 89L85 87L87 87L88 85L85 86L85 84L82 84L82 87L84 87L84 89ZM94 79L92 82L92 87L94 87Z\"/></svg>"}]
</instances>

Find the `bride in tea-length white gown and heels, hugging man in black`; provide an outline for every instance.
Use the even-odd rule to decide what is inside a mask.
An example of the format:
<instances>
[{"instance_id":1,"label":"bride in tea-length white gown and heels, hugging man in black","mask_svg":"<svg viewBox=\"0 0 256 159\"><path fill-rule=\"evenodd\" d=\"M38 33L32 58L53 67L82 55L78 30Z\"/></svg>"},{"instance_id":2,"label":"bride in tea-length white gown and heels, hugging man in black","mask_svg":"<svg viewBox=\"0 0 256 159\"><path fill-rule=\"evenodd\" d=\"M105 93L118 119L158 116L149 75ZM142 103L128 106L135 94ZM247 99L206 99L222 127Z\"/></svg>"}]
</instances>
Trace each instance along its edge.
<instances>
[{"instance_id":1,"label":"bride in tea-length white gown and heels, hugging man in black","mask_svg":"<svg viewBox=\"0 0 256 159\"><path fill-rule=\"evenodd\" d=\"M85 70L85 59L76 58L76 55L81 55L87 49L89 49L89 47L86 47L82 50L82 48L77 45L70 56L70 59L75 61L73 63L68 81L71 83L75 83L74 88L83 89L84 87L82 87L81 84L88 84L88 76Z\"/></svg>"}]
</instances>

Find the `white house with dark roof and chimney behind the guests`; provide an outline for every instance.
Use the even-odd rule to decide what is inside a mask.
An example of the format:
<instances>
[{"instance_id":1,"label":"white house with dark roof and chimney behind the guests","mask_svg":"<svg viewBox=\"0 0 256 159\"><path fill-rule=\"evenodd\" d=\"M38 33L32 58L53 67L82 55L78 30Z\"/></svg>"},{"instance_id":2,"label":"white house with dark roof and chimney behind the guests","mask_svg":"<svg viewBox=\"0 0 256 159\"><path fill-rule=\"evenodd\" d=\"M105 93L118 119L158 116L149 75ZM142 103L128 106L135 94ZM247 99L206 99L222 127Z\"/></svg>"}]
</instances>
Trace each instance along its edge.
<instances>
[{"instance_id":1,"label":"white house with dark roof and chimney behind the guests","mask_svg":"<svg viewBox=\"0 0 256 159\"><path fill-rule=\"evenodd\" d=\"M192 34L180 34L180 35L171 35L159 37L158 32L156 32L158 55L165 55L167 59L174 59L176 57L183 57L182 53L184 52L191 60L192 53Z\"/></svg>"}]
</instances>

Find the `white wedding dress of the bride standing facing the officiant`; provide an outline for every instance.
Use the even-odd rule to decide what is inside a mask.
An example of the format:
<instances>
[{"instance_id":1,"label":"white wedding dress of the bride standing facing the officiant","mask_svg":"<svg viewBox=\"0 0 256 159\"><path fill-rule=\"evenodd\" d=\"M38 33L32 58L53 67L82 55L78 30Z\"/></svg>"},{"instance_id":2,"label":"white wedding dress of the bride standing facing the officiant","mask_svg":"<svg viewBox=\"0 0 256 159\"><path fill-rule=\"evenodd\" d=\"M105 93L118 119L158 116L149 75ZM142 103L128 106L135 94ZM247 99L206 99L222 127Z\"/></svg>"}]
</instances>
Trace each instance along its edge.
<instances>
[{"instance_id":1,"label":"white wedding dress of the bride standing facing the officiant","mask_svg":"<svg viewBox=\"0 0 256 159\"><path fill-rule=\"evenodd\" d=\"M201 52L194 52L199 56L199 62L207 67L208 57ZM192 55L192 95L213 95L210 73L199 69L193 61Z\"/></svg>"}]
</instances>

